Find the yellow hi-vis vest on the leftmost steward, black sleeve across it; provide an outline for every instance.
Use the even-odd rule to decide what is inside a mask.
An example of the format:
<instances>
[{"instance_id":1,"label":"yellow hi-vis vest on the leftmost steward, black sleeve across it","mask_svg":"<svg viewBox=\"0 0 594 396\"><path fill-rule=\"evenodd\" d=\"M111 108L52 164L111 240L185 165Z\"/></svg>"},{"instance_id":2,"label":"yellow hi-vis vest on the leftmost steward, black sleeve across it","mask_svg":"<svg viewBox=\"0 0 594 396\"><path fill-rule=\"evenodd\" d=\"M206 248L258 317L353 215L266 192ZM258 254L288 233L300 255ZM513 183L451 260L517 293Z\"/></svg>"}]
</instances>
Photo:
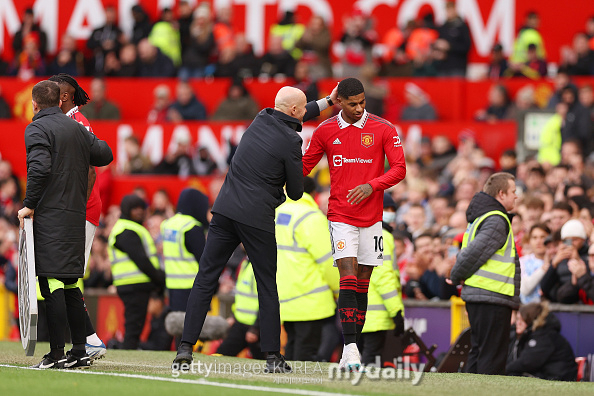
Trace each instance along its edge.
<instances>
[{"instance_id":1,"label":"yellow hi-vis vest on the leftmost steward, black sleeve across it","mask_svg":"<svg viewBox=\"0 0 594 396\"><path fill-rule=\"evenodd\" d=\"M132 285L136 283L148 283L151 281L144 272L142 272L128 257L128 254L117 249L115 240L125 230L131 230L138 234L144 251L148 256L149 260L155 268L159 268L159 258L157 257L157 248L155 248L155 242L151 237L151 234L142 225L132 220L119 219L113 225L109 238L107 240L107 249L109 252L109 258L111 260L111 275L113 278L114 286Z\"/></svg>"}]
</instances>

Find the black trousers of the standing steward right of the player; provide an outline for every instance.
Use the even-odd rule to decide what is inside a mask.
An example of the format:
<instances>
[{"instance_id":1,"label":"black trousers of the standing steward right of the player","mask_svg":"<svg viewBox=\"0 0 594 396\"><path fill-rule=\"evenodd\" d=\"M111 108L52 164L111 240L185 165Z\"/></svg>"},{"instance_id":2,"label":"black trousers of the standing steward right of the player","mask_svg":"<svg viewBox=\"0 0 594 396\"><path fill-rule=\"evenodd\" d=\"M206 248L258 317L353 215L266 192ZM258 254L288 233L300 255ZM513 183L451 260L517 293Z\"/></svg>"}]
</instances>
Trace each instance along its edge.
<instances>
[{"instance_id":1,"label":"black trousers of the standing steward right of the player","mask_svg":"<svg viewBox=\"0 0 594 396\"><path fill-rule=\"evenodd\" d=\"M470 353L466 370L505 375L512 309L503 305L466 303L470 322Z\"/></svg>"}]
</instances>

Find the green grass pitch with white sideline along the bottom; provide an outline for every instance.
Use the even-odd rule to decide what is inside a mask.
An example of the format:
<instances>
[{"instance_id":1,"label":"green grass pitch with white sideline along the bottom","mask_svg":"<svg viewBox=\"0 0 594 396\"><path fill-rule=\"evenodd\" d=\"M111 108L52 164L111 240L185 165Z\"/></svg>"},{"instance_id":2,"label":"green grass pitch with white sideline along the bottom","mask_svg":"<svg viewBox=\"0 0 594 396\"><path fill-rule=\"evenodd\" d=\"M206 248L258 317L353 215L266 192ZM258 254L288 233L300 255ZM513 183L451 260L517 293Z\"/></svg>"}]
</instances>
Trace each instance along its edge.
<instances>
[{"instance_id":1,"label":"green grass pitch with white sideline along the bottom","mask_svg":"<svg viewBox=\"0 0 594 396\"><path fill-rule=\"evenodd\" d=\"M67 346L68 347L68 346ZM202 374L173 375L171 361L175 352L109 350L107 356L87 370L23 369L39 362L49 350L47 343L37 345L35 356L27 357L19 342L0 342L0 395L89 394L99 391L109 396L131 395L592 395L592 383L549 382L533 378L483 376L472 374L424 374L417 385L402 373L395 377L364 374L330 378L327 363L305 366L293 374L251 373L245 364L262 363L251 359L194 354L201 362ZM218 372L205 367L245 367L243 373ZM294 367L300 362L294 363ZM374 370L374 369L371 369ZM393 374L393 373L392 373ZM379 378L378 378L379 377ZM353 383L356 382L356 385ZM96 390L92 391L91 390ZM26 390L26 391L25 391ZM24 392L25 391L25 392ZM24 393L23 393L24 392Z\"/></svg>"}]
</instances>

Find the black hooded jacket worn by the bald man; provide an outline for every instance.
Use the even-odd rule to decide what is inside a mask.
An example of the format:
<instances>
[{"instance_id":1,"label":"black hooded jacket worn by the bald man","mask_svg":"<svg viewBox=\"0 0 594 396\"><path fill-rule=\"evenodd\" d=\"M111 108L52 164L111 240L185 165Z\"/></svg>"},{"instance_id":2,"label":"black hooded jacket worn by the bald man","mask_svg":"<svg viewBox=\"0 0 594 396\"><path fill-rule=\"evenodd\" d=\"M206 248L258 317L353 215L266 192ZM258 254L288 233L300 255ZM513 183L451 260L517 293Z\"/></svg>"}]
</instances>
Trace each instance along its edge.
<instances>
[{"instance_id":1,"label":"black hooded jacket worn by the bald man","mask_svg":"<svg viewBox=\"0 0 594 396\"><path fill-rule=\"evenodd\" d=\"M306 105L303 121L320 115L316 102ZM266 108L254 118L231 160L212 212L248 226L274 233L274 210L287 195L303 195L301 123Z\"/></svg>"}]
</instances>

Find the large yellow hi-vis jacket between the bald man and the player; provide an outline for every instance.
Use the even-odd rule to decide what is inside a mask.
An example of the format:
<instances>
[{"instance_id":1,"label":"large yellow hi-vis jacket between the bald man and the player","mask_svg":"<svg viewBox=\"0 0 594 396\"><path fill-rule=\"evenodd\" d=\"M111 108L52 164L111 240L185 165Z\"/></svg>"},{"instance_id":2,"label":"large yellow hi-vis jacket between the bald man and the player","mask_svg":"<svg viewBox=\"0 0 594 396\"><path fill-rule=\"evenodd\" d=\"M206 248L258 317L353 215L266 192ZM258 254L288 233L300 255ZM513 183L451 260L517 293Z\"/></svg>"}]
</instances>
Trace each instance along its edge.
<instances>
[{"instance_id":1,"label":"large yellow hi-vis jacket between the bald man and the player","mask_svg":"<svg viewBox=\"0 0 594 396\"><path fill-rule=\"evenodd\" d=\"M287 199L276 209L276 244L281 321L334 315L339 275L332 267L328 219L309 194L298 201Z\"/></svg>"}]
</instances>

